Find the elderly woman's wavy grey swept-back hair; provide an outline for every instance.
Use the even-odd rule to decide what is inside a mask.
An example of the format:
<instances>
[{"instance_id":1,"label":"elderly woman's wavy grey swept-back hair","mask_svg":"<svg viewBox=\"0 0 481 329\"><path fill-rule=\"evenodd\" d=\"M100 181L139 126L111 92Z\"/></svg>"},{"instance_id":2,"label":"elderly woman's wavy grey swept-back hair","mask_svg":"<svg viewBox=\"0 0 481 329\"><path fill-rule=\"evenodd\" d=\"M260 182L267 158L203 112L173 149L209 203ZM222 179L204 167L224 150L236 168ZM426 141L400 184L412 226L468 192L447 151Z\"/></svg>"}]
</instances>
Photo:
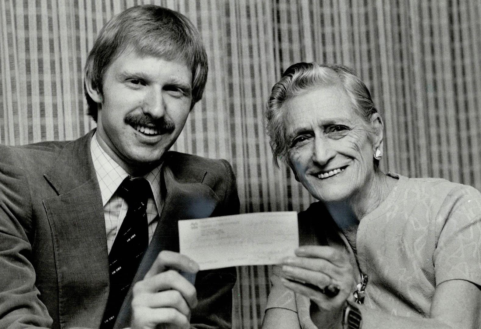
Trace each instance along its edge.
<instances>
[{"instance_id":1,"label":"elderly woman's wavy grey swept-back hair","mask_svg":"<svg viewBox=\"0 0 481 329\"><path fill-rule=\"evenodd\" d=\"M350 68L339 64L295 63L291 65L278 83L272 87L266 105L267 134L274 154L274 163L277 166L278 159L289 164L284 110L282 109L284 102L306 91L332 86L338 86L346 92L354 110L367 124L370 123L371 115L378 112L366 85ZM367 136L372 140L375 131L371 125L366 125L366 127ZM379 161L376 160L375 164L377 166Z\"/></svg>"}]
</instances>

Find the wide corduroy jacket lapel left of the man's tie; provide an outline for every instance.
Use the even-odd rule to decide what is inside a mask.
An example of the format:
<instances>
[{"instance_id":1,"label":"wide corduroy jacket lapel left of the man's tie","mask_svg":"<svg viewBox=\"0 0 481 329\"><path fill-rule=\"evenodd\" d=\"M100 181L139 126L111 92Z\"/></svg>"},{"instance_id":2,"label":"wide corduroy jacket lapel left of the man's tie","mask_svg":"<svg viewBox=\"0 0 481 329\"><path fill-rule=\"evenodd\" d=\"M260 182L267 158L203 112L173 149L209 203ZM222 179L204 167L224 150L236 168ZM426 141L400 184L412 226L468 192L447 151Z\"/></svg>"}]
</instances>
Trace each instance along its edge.
<instances>
[{"instance_id":1,"label":"wide corduroy jacket lapel left of the man's tie","mask_svg":"<svg viewBox=\"0 0 481 329\"><path fill-rule=\"evenodd\" d=\"M105 220L90 156L92 135L66 144L45 174L58 194L43 204L52 230L60 323L66 327L98 327L108 296Z\"/></svg>"}]
</instances>

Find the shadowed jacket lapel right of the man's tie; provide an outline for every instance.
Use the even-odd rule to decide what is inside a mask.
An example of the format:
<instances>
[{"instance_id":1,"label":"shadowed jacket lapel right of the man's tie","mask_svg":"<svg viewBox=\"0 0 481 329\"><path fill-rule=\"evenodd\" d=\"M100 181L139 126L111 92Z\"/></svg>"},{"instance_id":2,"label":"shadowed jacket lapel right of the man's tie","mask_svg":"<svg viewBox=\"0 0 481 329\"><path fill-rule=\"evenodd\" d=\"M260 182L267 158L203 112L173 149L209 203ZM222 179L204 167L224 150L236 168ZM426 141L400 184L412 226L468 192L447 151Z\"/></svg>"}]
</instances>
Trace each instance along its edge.
<instances>
[{"instance_id":1,"label":"shadowed jacket lapel right of the man's tie","mask_svg":"<svg viewBox=\"0 0 481 329\"><path fill-rule=\"evenodd\" d=\"M186 177L176 177L169 166L169 161L165 161L162 175L164 178L162 184L164 206L159 223L140 262L132 286L127 292L114 329L130 326L132 288L136 282L144 278L157 255L162 250L179 251L177 221L179 219L209 217L217 206L219 199L214 191L209 186L202 184L205 173L206 171L203 170L198 172L197 175L192 174L190 182L186 182Z\"/></svg>"}]
</instances>

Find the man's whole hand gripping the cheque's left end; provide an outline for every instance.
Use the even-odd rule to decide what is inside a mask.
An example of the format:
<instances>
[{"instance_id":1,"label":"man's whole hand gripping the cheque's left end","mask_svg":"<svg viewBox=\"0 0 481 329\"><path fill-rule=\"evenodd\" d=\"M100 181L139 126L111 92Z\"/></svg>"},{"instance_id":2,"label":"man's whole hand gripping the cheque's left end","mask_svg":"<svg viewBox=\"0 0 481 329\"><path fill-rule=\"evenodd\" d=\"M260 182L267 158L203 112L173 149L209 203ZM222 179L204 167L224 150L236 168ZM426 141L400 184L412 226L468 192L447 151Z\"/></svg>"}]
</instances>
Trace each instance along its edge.
<instances>
[{"instance_id":1,"label":"man's whole hand gripping the cheque's left end","mask_svg":"<svg viewBox=\"0 0 481 329\"><path fill-rule=\"evenodd\" d=\"M199 266L180 253L160 252L145 278L133 287L132 329L190 328L197 292L178 271L197 273Z\"/></svg>"}]
</instances>

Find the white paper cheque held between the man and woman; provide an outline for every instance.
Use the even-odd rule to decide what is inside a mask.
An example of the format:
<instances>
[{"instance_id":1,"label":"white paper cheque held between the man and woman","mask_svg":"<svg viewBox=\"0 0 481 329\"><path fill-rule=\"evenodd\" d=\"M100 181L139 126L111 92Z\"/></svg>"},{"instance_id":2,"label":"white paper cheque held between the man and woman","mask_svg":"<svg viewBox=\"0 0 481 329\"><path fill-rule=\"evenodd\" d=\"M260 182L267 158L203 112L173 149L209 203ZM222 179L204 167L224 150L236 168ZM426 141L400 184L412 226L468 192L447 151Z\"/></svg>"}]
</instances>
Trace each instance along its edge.
<instances>
[{"instance_id":1,"label":"white paper cheque held between the man and woman","mask_svg":"<svg viewBox=\"0 0 481 329\"><path fill-rule=\"evenodd\" d=\"M299 247L294 211L186 219L178 227L180 253L201 270L278 264Z\"/></svg>"}]
</instances>

